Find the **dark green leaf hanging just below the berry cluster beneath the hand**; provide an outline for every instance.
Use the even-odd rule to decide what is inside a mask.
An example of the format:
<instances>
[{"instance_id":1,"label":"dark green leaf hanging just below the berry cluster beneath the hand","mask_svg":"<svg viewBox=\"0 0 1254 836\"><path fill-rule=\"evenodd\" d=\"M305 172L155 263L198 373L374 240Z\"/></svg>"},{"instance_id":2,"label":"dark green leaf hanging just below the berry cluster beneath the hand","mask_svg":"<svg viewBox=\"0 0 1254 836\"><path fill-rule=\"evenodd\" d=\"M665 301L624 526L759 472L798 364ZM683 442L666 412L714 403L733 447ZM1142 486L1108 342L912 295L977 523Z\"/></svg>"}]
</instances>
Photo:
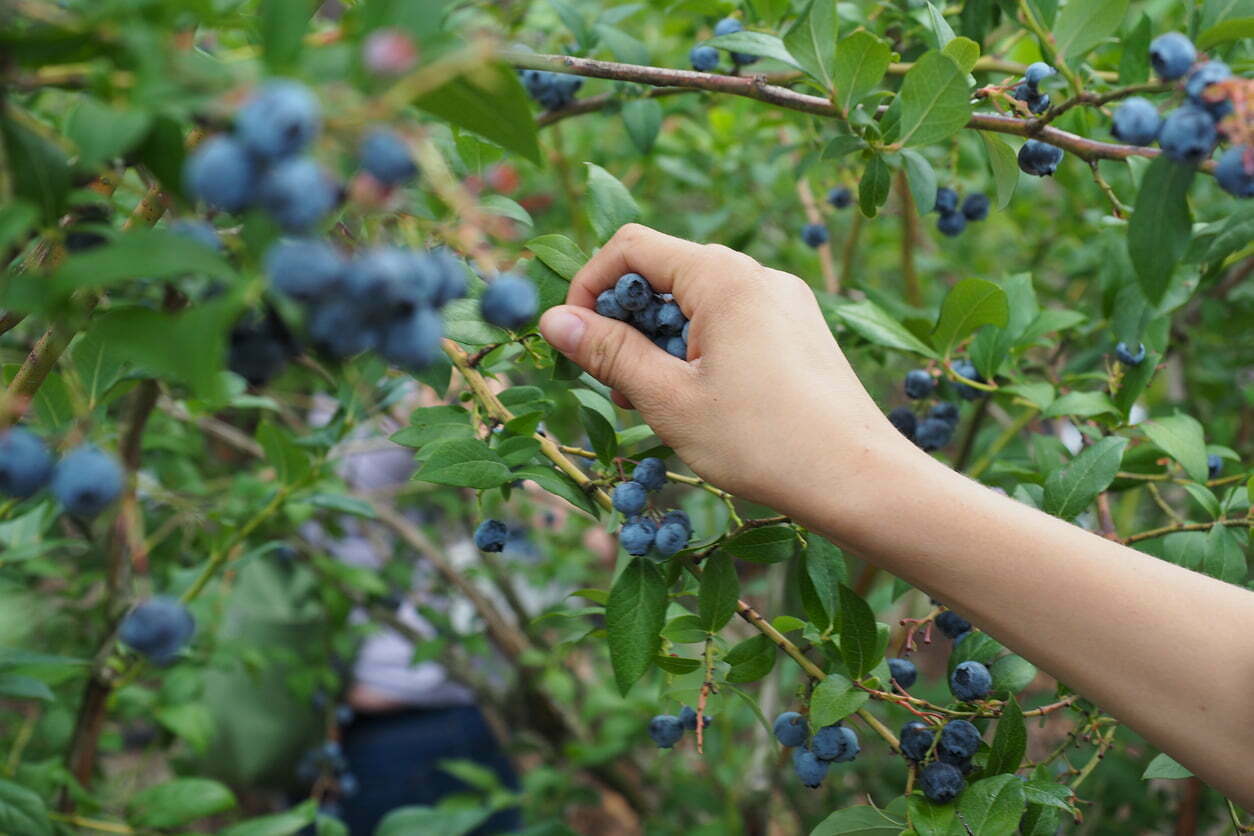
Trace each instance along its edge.
<instances>
[{"instance_id":1,"label":"dark green leaf hanging just below the berry cluster beneath the hand","mask_svg":"<svg viewBox=\"0 0 1254 836\"><path fill-rule=\"evenodd\" d=\"M661 647L666 582L651 560L632 558L609 589L606 633L618 693L626 696L645 676Z\"/></svg>"}]
</instances>

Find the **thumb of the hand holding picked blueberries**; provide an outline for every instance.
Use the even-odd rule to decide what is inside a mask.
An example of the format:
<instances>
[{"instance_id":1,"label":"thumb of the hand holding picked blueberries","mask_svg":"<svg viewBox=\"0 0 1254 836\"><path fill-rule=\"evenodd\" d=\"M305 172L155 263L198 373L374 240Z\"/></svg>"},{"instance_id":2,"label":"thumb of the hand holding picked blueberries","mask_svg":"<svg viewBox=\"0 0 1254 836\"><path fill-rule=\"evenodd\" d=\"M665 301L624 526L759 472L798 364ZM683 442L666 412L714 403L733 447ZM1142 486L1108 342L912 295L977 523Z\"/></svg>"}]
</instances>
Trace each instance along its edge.
<instances>
[{"instance_id":1,"label":"thumb of the hand holding picked blueberries","mask_svg":"<svg viewBox=\"0 0 1254 836\"><path fill-rule=\"evenodd\" d=\"M682 385L692 374L685 361L662 351L643 333L618 320L574 305L559 305L540 317L540 333L606 386L642 406L655 394Z\"/></svg>"}]
</instances>

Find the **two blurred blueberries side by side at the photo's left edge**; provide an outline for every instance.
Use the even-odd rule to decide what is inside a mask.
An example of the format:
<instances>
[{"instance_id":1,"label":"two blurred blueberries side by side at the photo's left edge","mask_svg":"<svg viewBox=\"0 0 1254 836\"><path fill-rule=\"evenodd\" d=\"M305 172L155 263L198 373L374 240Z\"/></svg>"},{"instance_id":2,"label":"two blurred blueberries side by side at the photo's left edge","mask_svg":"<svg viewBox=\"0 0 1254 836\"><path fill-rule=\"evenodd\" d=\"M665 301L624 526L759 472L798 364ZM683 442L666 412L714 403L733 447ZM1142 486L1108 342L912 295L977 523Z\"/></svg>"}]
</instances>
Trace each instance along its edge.
<instances>
[{"instance_id":1,"label":"two blurred blueberries side by side at the photo's left edge","mask_svg":"<svg viewBox=\"0 0 1254 836\"><path fill-rule=\"evenodd\" d=\"M34 496L45 486L76 516L95 516L122 493L122 466L98 447L84 444L58 462L34 432L11 427L0 434L0 495Z\"/></svg>"}]
</instances>

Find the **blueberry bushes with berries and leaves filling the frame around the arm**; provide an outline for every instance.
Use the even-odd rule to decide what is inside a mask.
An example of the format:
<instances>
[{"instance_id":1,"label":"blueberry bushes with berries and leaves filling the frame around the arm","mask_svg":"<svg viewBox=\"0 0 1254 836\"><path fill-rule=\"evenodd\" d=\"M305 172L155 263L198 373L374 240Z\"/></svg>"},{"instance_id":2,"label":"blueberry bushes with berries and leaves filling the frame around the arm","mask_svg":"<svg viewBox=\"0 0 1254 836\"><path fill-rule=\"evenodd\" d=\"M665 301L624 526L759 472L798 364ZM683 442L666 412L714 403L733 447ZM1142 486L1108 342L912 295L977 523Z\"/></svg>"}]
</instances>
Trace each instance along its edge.
<instances>
[{"instance_id":1,"label":"blueberry bushes with berries and leaves filling the frame around the arm","mask_svg":"<svg viewBox=\"0 0 1254 836\"><path fill-rule=\"evenodd\" d=\"M624 223L725 243L920 447L1250 585L1249 3L0 10L0 832L345 832L382 628L527 770L380 833L1250 830L535 331ZM597 310L686 357L647 276ZM384 435L413 479L347 480Z\"/></svg>"}]
</instances>

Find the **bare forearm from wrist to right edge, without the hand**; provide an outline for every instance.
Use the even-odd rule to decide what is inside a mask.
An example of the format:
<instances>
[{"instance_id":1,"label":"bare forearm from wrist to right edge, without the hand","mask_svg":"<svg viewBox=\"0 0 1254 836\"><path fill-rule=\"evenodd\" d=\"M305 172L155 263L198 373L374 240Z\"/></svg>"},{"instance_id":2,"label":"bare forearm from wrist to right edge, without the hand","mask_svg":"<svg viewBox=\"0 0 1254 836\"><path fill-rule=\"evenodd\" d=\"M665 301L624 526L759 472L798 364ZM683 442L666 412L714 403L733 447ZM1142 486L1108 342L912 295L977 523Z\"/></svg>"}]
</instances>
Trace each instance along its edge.
<instances>
[{"instance_id":1,"label":"bare forearm from wrist to right edge, without the hand","mask_svg":"<svg viewBox=\"0 0 1254 836\"><path fill-rule=\"evenodd\" d=\"M904 445L846 464L865 489L819 486L799 503L801 521L1254 806L1254 593L1042 514Z\"/></svg>"}]
</instances>

